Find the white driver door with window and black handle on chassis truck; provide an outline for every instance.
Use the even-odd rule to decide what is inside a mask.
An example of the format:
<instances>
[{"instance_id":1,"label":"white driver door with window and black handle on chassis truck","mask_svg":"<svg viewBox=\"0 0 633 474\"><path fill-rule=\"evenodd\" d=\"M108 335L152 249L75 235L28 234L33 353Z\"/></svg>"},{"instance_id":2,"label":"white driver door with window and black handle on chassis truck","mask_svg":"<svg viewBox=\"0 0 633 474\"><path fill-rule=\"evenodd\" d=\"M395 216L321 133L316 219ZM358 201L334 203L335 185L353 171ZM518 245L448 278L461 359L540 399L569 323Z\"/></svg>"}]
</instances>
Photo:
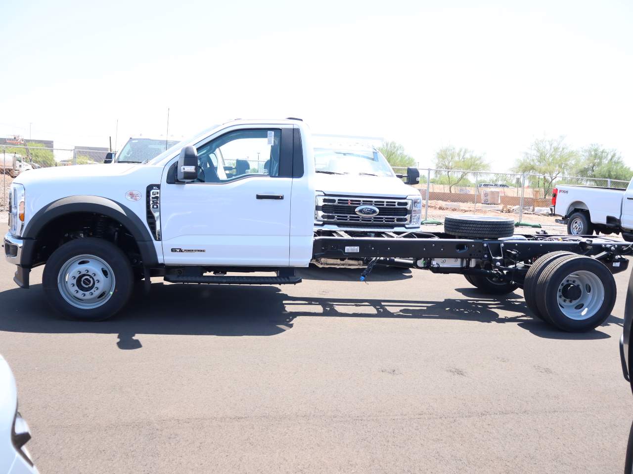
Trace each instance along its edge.
<instances>
[{"instance_id":1,"label":"white driver door with window and black handle on chassis truck","mask_svg":"<svg viewBox=\"0 0 633 474\"><path fill-rule=\"evenodd\" d=\"M196 144L198 178L161 183L165 264L288 266L292 125L234 126Z\"/></svg>"}]
</instances>

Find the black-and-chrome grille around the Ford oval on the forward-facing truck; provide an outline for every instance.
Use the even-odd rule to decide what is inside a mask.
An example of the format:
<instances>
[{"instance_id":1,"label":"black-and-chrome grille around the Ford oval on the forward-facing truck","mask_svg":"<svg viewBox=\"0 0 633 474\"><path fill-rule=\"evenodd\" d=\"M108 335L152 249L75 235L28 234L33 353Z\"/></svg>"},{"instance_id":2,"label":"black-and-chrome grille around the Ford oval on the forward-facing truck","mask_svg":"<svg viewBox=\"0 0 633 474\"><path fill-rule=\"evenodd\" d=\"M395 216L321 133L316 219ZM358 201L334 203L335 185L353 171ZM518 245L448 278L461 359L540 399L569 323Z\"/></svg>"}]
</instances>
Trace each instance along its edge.
<instances>
[{"instance_id":1,"label":"black-and-chrome grille around the Ford oval on the forward-facing truck","mask_svg":"<svg viewBox=\"0 0 633 474\"><path fill-rule=\"evenodd\" d=\"M377 207L376 216L356 214L356 207ZM410 222L410 202L406 199L349 198L323 196L318 199L318 219L323 222L344 223L348 226L402 226Z\"/></svg>"}]
</instances>

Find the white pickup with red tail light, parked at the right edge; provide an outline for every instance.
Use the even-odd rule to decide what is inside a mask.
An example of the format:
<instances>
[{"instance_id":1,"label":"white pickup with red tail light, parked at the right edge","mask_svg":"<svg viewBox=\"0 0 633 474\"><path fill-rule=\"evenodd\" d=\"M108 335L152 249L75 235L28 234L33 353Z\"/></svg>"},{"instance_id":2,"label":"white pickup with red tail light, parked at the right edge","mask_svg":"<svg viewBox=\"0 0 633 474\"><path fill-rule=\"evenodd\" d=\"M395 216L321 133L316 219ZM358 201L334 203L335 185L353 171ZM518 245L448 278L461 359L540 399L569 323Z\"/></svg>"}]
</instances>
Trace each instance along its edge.
<instances>
[{"instance_id":1,"label":"white pickup with red tail light, parked at the right edge","mask_svg":"<svg viewBox=\"0 0 633 474\"><path fill-rule=\"evenodd\" d=\"M633 181L632 181L633 183ZM627 189L561 185L552 191L552 212L570 235L621 233L633 241L633 186Z\"/></svg>"}]
</instances>

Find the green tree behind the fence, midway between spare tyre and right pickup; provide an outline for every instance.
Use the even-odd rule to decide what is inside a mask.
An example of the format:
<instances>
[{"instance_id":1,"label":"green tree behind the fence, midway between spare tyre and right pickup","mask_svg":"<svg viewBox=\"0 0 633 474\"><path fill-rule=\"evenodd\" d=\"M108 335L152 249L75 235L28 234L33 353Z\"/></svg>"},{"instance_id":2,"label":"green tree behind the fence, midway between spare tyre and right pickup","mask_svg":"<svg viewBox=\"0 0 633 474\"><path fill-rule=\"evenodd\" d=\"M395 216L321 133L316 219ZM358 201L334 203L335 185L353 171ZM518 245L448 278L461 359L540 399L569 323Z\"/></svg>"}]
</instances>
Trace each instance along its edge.
<instances>
[{"instance_id":1,"label":"green tree behind the fence, midway between spare tyre and right pickup","mask_svg":"<svg viewBox=\"0 0 633 474\"><path fill-rule=\"evenodd\" d=\"M453 192L453 186L460 183L470 184L468 174L472 171L486 171L490 165L481 155L475 155L472 151L455 147L444 147L436 153L436 182L448 185L448 192Z\"/></svg>"}]
</instances>

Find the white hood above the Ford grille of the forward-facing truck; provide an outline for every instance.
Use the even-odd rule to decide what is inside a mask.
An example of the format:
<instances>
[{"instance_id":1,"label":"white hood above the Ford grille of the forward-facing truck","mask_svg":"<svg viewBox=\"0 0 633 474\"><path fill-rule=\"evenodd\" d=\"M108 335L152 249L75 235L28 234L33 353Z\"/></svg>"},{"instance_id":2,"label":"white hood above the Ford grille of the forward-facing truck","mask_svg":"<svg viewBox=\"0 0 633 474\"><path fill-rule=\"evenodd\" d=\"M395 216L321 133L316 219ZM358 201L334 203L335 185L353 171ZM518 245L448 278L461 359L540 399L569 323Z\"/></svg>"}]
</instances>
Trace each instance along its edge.
<instances>
[{"instance_id":1,"label":"white hood above the Ford grille of the forward-facing truck","mask_svg":"<svg viewBox=\"0 0 633 474\"><path fill-rule=\"evenodd\" d=\"M395 176L316 173L314 183L316 191L334 195L404 198L420 193Z\"/></svg>"}]
</instances>

